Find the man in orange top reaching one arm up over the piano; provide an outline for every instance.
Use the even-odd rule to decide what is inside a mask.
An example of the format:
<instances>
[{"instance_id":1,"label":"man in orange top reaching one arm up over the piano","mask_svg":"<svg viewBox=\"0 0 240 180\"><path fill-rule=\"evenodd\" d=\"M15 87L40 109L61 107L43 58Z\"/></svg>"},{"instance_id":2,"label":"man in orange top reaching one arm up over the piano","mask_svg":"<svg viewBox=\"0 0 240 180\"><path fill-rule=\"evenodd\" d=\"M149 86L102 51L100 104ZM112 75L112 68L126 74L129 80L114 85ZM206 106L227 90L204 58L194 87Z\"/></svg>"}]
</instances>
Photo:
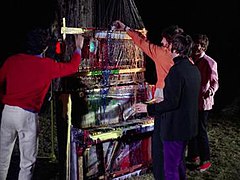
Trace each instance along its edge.
<instances>
[{"instance_id":1,"label":"man in orange top reaching one arm up over the piano","mask_svg":"<svg viewBox=\"0 0 240 180\"><path fill-rule=\"evenodd\" d=\"M166 78L169 69L174 64L173 55L171 53L171 43L176 34L184 32L183 29L178 25L171 25L163 29L161 34L161 46L151 43L143 33L128 27L119 20L113 22L113 29L126 31L126 33L132 38L135 45L141 48L142 51L154 61L157 72L154 99L155 102L163 101L163 87L165 85L164 79ZM152 135L152 160L154 178L156 180L164 179L163 147L160 137L159 119L155 119L154 121L154 131Z\"/></svg>"}]
</instances>

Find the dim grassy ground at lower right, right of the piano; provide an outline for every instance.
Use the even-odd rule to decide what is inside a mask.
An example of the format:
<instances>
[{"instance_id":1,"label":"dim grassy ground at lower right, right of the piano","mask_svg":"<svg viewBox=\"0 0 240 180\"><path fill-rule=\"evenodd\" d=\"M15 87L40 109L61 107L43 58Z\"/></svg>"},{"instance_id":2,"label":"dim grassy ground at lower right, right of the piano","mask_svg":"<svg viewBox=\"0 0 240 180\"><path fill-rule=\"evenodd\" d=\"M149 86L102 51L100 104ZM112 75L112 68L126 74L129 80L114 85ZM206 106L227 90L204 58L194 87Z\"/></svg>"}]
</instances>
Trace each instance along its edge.
<instances>
[{"instance_id":1,"label":"dim grassy ground at lower right, right of the piano","mask_svg":"<svg viewBox=\"0 0 240 180\"><path fill-rule=\"evenodd\" d=\"M240 109L239 102L236 103L210 118L212 167L204 173L187 171L189 180L240 179ZM153 177L146 174L133 179L150 180Z\"/></svg>"}]
</instances>

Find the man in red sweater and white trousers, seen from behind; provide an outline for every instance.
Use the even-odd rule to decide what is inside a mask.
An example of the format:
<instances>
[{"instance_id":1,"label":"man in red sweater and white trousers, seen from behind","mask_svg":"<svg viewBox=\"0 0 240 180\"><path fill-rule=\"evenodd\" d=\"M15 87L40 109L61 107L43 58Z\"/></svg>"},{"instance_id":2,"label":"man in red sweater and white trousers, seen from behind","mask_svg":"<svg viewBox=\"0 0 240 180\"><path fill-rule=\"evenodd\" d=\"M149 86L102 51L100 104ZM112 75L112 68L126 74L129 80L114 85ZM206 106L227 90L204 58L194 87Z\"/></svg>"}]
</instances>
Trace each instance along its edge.
<instances>
[{"instance_id":1,"label":"man in red sweater and white trousers, seen from behind","mask_svg":"<svg viewBox=\"0 0 240 180\"><path fill-rule=\"evenodd\" d=\"M6 59L0 69L0 179L6 180L15 141L19 139L18 180L30 180L38 153L38 113L53 79L78 71L84 38L75 36L76 50L69 63L44 57L50 40L45 29L35 28L26 38L26 53Z\"/></svg>"}]
</instances>

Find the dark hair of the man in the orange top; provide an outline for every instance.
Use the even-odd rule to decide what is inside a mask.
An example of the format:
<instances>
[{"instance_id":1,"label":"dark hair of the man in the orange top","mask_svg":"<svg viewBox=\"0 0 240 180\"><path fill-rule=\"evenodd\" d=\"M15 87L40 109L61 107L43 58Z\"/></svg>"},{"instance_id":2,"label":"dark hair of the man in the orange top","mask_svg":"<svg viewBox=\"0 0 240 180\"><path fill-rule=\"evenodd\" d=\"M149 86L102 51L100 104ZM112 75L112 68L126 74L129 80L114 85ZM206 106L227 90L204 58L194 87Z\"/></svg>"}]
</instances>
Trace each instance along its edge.
<instances>
[{"instance_id":1,"label":"dark hair of the man in the orange top","mask_svg":"<svg viewBox=\"0 0 240 180\"><path fill-rule=\"evenodd\" d=\"M172 43L172 40L176 34L182 34L184 30L178 25L171 25L162 31L162 37L166 38L168 43Z\"/></svg>"}]
</instances>

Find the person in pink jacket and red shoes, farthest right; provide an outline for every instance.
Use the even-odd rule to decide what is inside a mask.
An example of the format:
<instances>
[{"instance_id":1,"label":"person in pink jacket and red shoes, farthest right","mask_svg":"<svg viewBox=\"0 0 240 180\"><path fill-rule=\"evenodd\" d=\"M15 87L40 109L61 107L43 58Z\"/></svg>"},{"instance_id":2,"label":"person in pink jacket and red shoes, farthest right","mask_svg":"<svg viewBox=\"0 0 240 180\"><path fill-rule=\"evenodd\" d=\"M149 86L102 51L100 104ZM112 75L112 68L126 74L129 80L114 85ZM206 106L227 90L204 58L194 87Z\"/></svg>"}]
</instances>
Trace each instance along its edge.
<instances>
[{"instance_id":1,"label":"person in pink jacket and red shoes, farthest right","mask_svg":"<svg viewBox=\"0 0 240 180\"><path fill-rule=\"evenodd\" d=\"M203 172L211 167L207 122L219 82L217 62L206 54L209 45L208 37L205 34L195 34L192 39L194 42L192 60L201 72L201 89L198 100L198 135L188 144L187 161L188 164L197 165L197 169Z\"/></svg>"}]
</instances>

